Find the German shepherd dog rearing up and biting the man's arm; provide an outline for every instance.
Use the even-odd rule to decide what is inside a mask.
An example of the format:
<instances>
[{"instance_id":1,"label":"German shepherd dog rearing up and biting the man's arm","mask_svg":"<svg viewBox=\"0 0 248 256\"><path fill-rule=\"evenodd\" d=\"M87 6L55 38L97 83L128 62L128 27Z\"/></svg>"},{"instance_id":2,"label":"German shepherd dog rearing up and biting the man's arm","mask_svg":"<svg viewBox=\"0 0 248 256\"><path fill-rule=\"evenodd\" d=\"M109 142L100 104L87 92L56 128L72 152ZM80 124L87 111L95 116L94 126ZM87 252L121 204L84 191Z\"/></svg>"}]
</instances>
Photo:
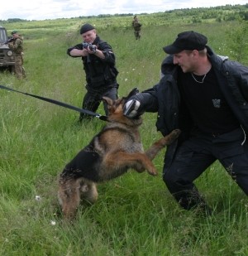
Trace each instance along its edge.
<instances>
[{"instance_id":1,"label":"German shepherd dog rearing up and biting the man's arm","mask_svg":"<svg viewBox=\"0 0 248 256\"><path fill-rule=\"evenodd\" d=\"M98 199L97 184L124 174L129 168L138 172L158 173L151 162L160 150L179 137L179 130L160 138L146 152L143 151L139 127L141 116L127 118L123 115L126 98L107 103L106 126L93 140L69 162L59 176L58 197L64 219L74 217L81 200L93 204Z\"/></svg>"}]
</instances>

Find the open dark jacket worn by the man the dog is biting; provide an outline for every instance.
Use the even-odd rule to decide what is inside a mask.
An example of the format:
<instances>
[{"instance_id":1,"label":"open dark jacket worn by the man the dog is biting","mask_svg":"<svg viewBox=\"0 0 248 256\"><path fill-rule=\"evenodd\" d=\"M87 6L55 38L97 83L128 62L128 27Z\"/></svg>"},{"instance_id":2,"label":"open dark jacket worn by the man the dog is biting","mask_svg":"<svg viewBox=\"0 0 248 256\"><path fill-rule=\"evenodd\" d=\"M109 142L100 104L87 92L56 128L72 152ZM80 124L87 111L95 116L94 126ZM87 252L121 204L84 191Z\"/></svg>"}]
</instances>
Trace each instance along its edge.
<instances>
[{"instance_id":1,"label":"open dark jacket worn by the man the dog is biting","mask_svg":"<svg viewBox=\"0 0 248 256\"><path fill-rule=\"evenodd\" d=\"M227 104L248 135L248 67L228 60L227 57L217 56L208 46L207 55ZM169 164L169 158L174 156L178 143L188 138L193 127L186 108L181 104L177 86L178 69L180 67L173 64L173 56L166 57L161 65L164 76L160 83L135 96L141 102L142 110L158 112L156 127L164 136L175 128L182 131L179 140L167 147L166 164Z\"/></svg>"}]
</instances>

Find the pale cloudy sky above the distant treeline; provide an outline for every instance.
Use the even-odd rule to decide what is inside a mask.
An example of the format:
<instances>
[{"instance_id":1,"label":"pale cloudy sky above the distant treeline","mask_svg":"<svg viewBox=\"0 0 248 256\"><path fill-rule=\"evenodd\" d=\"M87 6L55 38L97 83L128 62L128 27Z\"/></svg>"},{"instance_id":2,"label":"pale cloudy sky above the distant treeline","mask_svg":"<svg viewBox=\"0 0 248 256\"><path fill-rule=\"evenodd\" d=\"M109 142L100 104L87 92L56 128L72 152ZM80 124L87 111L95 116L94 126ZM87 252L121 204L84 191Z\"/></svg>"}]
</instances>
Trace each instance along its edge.
<instances>
[{"instance_id":1,"label":"pale cloudy sky above the distant treeline","mask_svg":"<svg viewBox=\"0 0 248 256\"><path fill-rule=\"evenodd\" d=\"M246 4L248 0L2 0L0 20L45 20L98 14L153 13L193 7Z\"/></svg>"}]
</instances>

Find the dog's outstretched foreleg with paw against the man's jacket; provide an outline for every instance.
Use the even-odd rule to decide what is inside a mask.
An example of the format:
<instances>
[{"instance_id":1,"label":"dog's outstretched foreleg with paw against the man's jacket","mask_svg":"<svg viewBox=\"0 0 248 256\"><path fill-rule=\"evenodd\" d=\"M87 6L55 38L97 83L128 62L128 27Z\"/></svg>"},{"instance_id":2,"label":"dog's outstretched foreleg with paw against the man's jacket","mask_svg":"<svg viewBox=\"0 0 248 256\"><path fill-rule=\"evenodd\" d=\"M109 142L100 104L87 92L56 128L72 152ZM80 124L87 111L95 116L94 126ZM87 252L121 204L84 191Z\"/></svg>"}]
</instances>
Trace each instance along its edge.
<instances>
[{"instance_id":1,"label":"dog's outstretched foreleg with paw against the man's jacket","mask_svg":"<svg viewBox=\"0 0 248 256\"><path fill-rule=\"evenodd\" d=\"M169 133L169 135L166 135L164 138L160 138L158 141L153 143L149 149L145 151L145 155L150 160L153 160L155 156L158 154L158 152L160 152L160 150L165 146L174 142L174 140L179 137L180 133L181 132L179 129L175 129L171 133Z\"/></svg>"}]
</instances>

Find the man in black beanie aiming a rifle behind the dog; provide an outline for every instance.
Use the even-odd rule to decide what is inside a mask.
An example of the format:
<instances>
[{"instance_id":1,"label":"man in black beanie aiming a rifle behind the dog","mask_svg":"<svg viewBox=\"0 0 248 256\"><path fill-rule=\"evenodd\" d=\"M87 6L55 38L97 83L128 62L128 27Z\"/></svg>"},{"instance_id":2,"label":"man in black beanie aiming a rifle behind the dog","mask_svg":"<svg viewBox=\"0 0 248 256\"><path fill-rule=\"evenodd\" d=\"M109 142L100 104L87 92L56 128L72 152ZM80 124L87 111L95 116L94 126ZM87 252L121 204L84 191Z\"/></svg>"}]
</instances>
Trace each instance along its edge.
<instances>
[{"instance_id":1,"label":"man in black beanie aiming a rifle behind the dog","mask_svg":"<svg viewBox=\"0 0 248 256\"><path fill-rule=\"evenodd\" d=\"M116 57L112 47L106 41L100 39L95 27L91 24L84 24L80 28L80 35L83 43L72 46L67 50L71 57L81 57L83 70L86 75L87 93L83 97L83 109L97 111L103 96L110 99L117 99L117 75ZM104 110L107 115L107 105L104 103ZM79 122L84 118L91 118L90 115L80 114Z\"/></svg>"}]
</instances>

